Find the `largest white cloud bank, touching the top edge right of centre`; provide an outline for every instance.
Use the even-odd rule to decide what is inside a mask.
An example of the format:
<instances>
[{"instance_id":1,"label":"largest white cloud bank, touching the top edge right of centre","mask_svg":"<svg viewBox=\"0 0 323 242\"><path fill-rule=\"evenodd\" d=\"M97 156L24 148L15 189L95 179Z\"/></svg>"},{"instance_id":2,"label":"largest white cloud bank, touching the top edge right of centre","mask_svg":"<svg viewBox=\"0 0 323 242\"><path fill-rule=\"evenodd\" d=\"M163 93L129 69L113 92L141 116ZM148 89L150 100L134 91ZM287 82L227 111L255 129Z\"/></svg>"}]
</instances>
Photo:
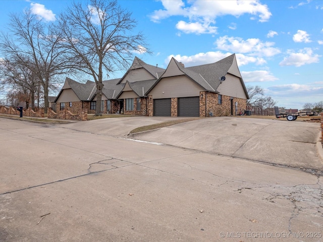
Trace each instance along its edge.
<instances>
[{"instance_id":1,"label":"largest white cloud bank, touching the top edge right of centre","mask_svg":"<svg viewBox=\"0 0 323 242\"><path fill-rule=\"evenodd\" d=\"M233 15L239 17L244 14L257 16L259 22L266 22L272 16L266 5L257 0L250 1L188 1L190 6L185 6L181 0L160 0L164 9L155 10L149 17L150 20L159 23L171 16L182 16L189 21L181 20L176 27L185 33L201 34L197 26L202 26L202 33L216 33L215 19L219 16ZM251 18L250 18L251 19ZM235 26L231 26L235 28Z\"/></svg>"}]
</instances>

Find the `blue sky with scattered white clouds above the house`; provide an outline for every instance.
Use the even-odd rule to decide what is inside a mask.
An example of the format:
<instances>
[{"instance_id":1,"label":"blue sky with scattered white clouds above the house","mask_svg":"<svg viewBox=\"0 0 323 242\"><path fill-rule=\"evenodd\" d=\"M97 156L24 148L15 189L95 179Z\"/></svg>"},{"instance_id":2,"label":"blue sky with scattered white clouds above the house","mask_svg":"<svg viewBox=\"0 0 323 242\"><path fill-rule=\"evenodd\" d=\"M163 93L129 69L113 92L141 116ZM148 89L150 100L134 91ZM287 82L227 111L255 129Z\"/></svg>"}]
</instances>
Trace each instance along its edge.
<instances>
[{"instance_id":1,"label":"blue sky with scattered white clouds above the house","mask_svg":"<svg viewBox=\"0 0 323 242\"><path fill-rule=\"evenodd\" d=\"M0 29L5 30L9 14L26 8L44 21L56 21L70 4L0 0ZM119 4L136 19L134 31L146 37L152 54L143 51L134 56L147 64L166 69L174 57L190 67L235 53L245 85L262 87L278 106L302 109L304 103L323 101L323 1L120 0Z\"/></svg>"}]
</instances>

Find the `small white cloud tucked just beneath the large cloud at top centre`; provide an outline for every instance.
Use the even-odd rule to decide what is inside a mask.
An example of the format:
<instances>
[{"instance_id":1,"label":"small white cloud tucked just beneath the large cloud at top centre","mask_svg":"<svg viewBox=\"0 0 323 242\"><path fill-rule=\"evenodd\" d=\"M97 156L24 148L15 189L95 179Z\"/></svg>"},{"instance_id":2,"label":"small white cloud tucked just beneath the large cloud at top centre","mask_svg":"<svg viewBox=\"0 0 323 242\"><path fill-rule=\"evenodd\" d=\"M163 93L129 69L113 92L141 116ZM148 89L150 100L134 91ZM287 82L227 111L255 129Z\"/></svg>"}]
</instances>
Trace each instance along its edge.
<instances>
[{"instance_id":1,"label":"small white cloud tucked just beneath the large cloud at top centre","mask_svg":"<svg viewBox=\"0 0 323 242\"><path fill-rule=\"evenodd\" d=\"M176 28L183 31L186 34L196 33L196 34L213 34L217 33L217 27L210 26L210 23L186 23L184 21L179 21L176 24Z\"/></svg>"}]
</instances>

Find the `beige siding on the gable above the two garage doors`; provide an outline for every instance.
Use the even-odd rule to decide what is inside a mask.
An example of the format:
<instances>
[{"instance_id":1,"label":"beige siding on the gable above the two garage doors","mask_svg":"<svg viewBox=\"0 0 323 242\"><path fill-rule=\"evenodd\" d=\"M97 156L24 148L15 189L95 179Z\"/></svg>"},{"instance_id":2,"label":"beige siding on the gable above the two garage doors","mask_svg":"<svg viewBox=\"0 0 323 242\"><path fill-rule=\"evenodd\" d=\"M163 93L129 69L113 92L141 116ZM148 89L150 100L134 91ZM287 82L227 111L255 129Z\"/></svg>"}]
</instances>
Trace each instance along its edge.
<instances>
[{"instance_id":1,"label":"beige siding on the gable above the two garage doors","mask_svg":"<svg viewBox=\"0 0 323 242\"><path fill-rule=\"evenodd\" d=\"M152 95L153 99L195 97L199 96L200 91L205 91L205 89L185 75L182 75L161 79L148 95Z\"/></svg>"}]
</instances>

